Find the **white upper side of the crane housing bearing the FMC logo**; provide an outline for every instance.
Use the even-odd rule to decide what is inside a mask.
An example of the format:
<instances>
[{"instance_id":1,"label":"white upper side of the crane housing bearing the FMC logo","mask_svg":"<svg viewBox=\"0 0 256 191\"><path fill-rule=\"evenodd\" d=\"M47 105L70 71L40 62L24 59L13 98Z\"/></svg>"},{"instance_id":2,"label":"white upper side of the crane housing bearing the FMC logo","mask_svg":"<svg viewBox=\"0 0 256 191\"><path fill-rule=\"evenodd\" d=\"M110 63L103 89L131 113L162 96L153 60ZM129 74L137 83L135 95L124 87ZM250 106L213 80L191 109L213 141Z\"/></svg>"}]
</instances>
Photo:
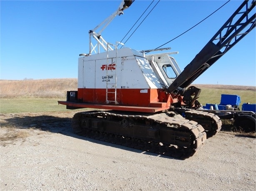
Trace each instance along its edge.
<instances>
[{"instance_id":1,"label":"white upper side of the crane housing bearing the FMC logo","mask_svg":"<svg viewBox=\"0 0 256 191\"><path fill-rule=\"evenodd\" d=\"M151 68L148 60L138 51L132 49L118 49L118 58L115 51L85 56L79 59L78 86L80 88L162 88ZM124 56L126 55L126 56ZM83 64L81 62L83 61ZM83 66L83 69L82 69ZM83 71L83 72L81 72ZM81 78L83 76L83 83ZM115 82L115 77L117 81Z\"/></svg>"}]
</instances>

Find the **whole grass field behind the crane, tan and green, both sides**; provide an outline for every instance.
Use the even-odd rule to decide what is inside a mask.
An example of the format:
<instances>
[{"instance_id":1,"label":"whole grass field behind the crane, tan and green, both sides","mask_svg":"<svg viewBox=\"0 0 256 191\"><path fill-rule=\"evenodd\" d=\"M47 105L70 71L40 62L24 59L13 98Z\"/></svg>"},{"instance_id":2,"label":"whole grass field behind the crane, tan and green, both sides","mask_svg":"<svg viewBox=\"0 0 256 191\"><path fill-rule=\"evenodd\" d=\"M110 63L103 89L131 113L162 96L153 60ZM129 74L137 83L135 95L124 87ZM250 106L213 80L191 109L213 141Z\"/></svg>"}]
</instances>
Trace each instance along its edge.
<instances>
[{"instance_id":1,"label":"whole grass field behind the crane, tan and green, both sides","mask_svg":"<svg viewBox=\"0 0 256 191\"><path fill-rule=\"evenodd\" d=\"M234 94L243 103L256 103L256 87L194 85L201 88L199 102L220 103L221 94ZM66 91L77 89L77 79L0 80L0 113L65 111L58 100L65 100Z\"/></svg>"}]
</instances>

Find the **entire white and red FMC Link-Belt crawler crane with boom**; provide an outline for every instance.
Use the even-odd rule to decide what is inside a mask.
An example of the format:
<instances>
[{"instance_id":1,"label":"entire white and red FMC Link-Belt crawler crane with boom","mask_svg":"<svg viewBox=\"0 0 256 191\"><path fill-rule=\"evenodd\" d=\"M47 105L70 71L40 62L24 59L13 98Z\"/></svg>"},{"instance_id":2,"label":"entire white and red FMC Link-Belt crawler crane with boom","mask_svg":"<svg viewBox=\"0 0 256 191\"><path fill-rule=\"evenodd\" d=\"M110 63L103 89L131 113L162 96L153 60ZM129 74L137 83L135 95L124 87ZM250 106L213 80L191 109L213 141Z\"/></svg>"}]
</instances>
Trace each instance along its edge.
<instances>
[{"instance_id":1,"label":"entire white and red FMC Link-Belt crawler crane with boom","mask_svg":"<svg viewBox=\"0 0 256 191\"><path fill-rule=\"evenodd\" d=\"M183 71L171 56L176 52L118 49L122 43L103 39L105 27L132 3L124 0L89 31L89 53L78 59L78 89L58 103L95 109L73 116L78 135L186 159L221 129L217 115L198 110L201 90L190 85L255 27L255 0L242 2Z\"/></svg>"}]
</instances>

